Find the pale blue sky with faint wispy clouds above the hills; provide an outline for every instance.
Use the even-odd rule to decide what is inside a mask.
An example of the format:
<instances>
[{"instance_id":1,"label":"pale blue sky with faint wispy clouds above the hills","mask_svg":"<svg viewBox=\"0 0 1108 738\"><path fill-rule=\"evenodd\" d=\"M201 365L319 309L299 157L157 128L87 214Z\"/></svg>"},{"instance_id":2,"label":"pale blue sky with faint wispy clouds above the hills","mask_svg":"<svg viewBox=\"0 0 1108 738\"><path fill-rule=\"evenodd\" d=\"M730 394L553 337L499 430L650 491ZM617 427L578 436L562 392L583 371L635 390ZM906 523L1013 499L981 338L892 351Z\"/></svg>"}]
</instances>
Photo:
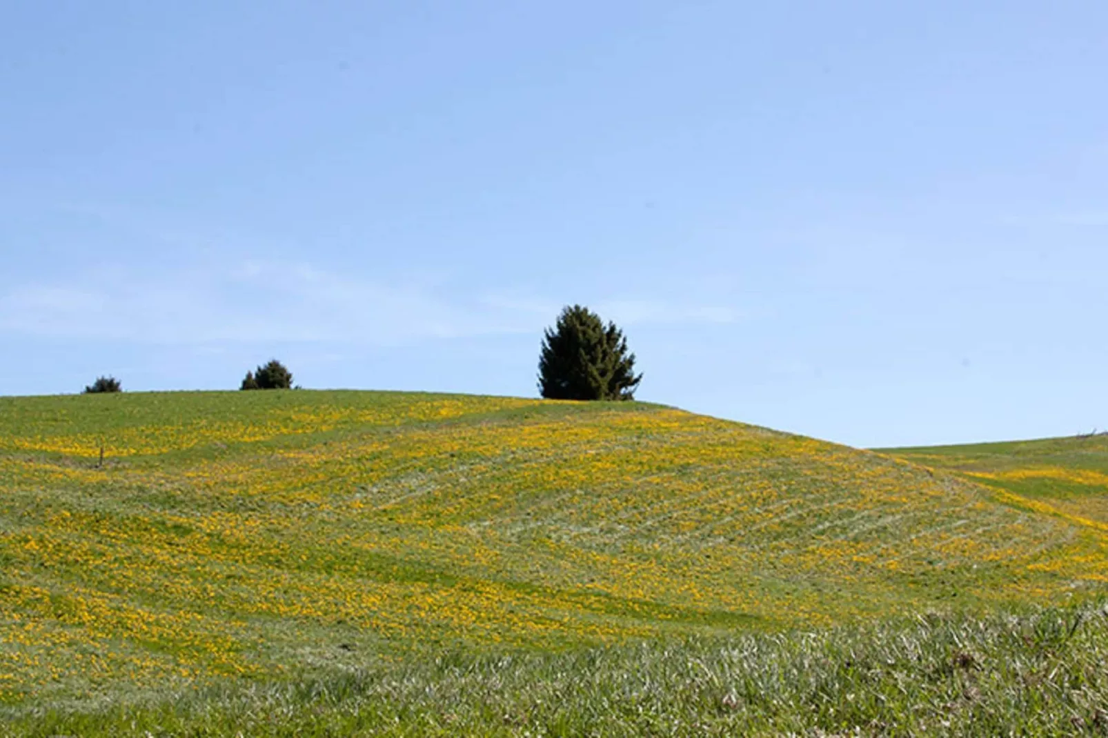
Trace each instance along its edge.
<instances>
[{"instance_id":1,"label":"pale blue sky with faint wispy clouds above the hills","mask_svg":"<svg viewBox=\"0 0 1108 738\"><path fill-rule=\"evenodd\" d=\"M1108 428L1108 3L0 1L0 394L637 398L864 447Z\"/></svg>"}]
</instances>

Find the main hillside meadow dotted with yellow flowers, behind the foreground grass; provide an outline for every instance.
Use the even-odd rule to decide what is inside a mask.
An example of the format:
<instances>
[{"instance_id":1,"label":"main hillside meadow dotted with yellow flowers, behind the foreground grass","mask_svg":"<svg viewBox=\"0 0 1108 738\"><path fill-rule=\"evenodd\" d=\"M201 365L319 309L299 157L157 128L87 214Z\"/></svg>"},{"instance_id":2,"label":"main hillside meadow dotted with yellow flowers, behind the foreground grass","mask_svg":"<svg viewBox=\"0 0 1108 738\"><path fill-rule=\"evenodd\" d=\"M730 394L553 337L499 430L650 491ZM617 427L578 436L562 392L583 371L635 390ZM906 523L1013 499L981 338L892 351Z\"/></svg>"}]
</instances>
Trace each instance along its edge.
<instances>
[{"instance_id":1,"label":"main hillside meadow dotted with yellow flowers, behind the foreground grass","mask_svg":"<svg viewBox=\"0 0 1108 738\"><path fill-rule=\"evenodd\" d=\"M811 439L644 404L259 394L106 430L69 398L0 437L0 700L1106 581L1073 521Z\"/></svg>"}]
</instances>

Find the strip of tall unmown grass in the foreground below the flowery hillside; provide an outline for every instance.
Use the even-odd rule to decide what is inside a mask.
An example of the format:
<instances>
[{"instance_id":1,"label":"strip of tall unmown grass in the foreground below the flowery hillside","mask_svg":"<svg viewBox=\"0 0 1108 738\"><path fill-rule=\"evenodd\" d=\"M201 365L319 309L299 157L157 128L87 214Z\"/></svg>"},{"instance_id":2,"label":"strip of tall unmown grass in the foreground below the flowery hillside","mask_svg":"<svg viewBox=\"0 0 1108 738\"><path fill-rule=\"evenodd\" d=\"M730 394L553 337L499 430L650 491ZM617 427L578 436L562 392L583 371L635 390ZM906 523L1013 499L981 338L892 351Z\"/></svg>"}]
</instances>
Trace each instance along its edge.
<instances>
[{"instance_id":1,"label":"strip of tall unmown grass in the foreground below the flowery hillside","mask_svg":"<svg viewBox=\"0 0 1108 738\"><path fill-rule=\"evenodd\" d=\"M923 615L825 632L442 656L2 736L1108 735L1108 607Z\"/></svg>"}]
</instances>

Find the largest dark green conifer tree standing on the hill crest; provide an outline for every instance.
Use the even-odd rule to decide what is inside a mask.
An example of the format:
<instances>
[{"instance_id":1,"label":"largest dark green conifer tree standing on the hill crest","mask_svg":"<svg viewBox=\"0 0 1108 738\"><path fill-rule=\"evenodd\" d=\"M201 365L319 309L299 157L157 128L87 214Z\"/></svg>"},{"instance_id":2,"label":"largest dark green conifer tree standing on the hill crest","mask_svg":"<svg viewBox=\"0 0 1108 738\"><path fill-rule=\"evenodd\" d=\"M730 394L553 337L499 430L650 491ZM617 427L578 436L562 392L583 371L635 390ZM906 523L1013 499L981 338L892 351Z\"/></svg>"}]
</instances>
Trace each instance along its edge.
<instances>
[{"instance_id":1,"label":"largest dark green conifer tree standing on the hill crest","mask_svg":"<svg viewBox=\"0 0 1108 738\"><path fill-rule=\"evenodd\" d=\"M551 400L634 400L643 375L614 322L588 308L566 307L547 328L538 359L538 391Z\"/></svg>"}]
</instances>

